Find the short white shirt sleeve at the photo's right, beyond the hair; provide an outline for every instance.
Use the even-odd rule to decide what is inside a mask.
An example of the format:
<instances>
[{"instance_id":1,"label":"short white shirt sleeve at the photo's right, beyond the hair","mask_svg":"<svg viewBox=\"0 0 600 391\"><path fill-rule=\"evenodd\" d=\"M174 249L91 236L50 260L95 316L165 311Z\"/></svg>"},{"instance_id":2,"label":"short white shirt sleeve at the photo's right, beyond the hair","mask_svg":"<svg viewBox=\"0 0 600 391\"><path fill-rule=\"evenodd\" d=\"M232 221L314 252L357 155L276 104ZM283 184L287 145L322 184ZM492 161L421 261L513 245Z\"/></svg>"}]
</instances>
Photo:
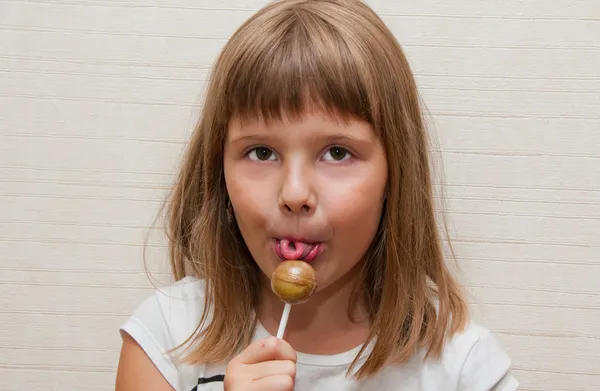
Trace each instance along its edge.
<instances>
[{"instance_id":1,"label":"short white shirt sleeve at the photo's right, beyond the hair","mask_svg":"<svg viewBox=\"0 0 600 391\"><path fill-rule=\"evenodd\" d=\"M459 391L516 391L511 360L498 340L486 331L477 338L463 364Z\"/></svg>"}]
</instances>

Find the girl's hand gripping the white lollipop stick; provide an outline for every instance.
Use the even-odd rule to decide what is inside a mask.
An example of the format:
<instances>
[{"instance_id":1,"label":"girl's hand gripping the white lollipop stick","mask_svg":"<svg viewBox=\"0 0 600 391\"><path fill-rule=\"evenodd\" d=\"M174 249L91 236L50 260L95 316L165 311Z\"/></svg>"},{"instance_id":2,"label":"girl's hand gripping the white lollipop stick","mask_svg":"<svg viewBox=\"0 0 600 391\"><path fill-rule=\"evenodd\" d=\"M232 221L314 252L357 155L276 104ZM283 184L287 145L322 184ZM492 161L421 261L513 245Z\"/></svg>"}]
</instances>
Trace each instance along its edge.
<instances>
[{"instance_id":1,"label":"girl's hand gripping the white lollipop stick","mask_svg":"<svg viewBox=\"0 0 600 391\"><path fill-rule=\"evenodd\" d=\"M293 391L296 351L275 337L255 341L225 370L225 391Z\"/></svg>"}]
</instances>

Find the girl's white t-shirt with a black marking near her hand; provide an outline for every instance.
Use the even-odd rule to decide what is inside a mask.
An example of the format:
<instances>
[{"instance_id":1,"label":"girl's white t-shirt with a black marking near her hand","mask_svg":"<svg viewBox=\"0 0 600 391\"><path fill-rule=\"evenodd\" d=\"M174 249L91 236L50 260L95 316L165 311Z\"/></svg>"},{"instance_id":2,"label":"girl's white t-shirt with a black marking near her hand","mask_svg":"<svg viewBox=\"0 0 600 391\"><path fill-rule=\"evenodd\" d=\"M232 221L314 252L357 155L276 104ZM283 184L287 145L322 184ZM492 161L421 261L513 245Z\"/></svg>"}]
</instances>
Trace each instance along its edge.
<instances>
[{"instance_id":1,"label":"girl's white t-shirt with a black marking near her hand","mask_svg":"<svg viewBox=\"0 0 600 391\"><path fill-rule=\"evenodd\" d=\"M194 333L204 305L204 284L186 277L144 300L123 324L176 391L223 390L225 363L188 365L169 354ZM254 338L270 334L260 324ZM402 366L390 366L375 377L346 378L360 347L328 356L297 353L296 391L514 391L510 358L486 329L471 323L444 347L439 359L423 361L417 354ZM363 356L364 357L364 356ZM360 366L360 365L359 365Z\"/></svg>"}]
</instances>

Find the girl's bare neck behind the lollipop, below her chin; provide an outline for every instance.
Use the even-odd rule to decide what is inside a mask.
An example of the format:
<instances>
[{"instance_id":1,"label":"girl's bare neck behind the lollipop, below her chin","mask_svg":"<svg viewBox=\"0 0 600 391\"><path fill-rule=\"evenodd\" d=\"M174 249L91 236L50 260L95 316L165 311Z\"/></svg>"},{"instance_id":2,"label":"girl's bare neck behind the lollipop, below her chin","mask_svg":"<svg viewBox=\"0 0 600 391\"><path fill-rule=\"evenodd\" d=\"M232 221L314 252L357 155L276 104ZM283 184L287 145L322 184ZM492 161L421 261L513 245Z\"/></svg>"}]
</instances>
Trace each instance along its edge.
<instances>
[{"instance_id":1,"label":"girl's bare neck behind the lollipop, below her chin","mask_svg":"<svg viewBox=\"0 0 600 391\"><path fill-rule=\"evenodd\" d=\"M309 354L342 353L365 342L370 328L362 297L355 296L359 301L350 307L354 283L355 276L348 276L315 292L307 302L293 305L284 339ZM284 303L271 291L266 277L262 286L258 319L275 335Z\"/></svg>"}]
</instances>

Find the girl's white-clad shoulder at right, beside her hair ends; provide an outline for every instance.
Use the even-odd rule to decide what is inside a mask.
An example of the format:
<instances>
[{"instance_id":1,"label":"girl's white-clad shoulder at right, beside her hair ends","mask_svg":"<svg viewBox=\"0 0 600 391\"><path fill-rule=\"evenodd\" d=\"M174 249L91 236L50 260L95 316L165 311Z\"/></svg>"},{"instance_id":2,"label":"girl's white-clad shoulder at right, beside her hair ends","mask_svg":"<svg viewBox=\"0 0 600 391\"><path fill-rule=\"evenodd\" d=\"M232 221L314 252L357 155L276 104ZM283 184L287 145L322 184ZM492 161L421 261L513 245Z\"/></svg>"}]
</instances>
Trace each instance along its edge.
<instances>
[{"instance_id":1,"label":"girl's white-clad shoulder at right, beside her hair ends","mask_svg":"<svg viewBox=\"0 0 600 391\"><path fill-rule=\"evenodd\" d=\"M514 391L511 359L497 337L475 322L446 343L439 363L456 379L461 391Z\"/></svg>"}]
</instances>

